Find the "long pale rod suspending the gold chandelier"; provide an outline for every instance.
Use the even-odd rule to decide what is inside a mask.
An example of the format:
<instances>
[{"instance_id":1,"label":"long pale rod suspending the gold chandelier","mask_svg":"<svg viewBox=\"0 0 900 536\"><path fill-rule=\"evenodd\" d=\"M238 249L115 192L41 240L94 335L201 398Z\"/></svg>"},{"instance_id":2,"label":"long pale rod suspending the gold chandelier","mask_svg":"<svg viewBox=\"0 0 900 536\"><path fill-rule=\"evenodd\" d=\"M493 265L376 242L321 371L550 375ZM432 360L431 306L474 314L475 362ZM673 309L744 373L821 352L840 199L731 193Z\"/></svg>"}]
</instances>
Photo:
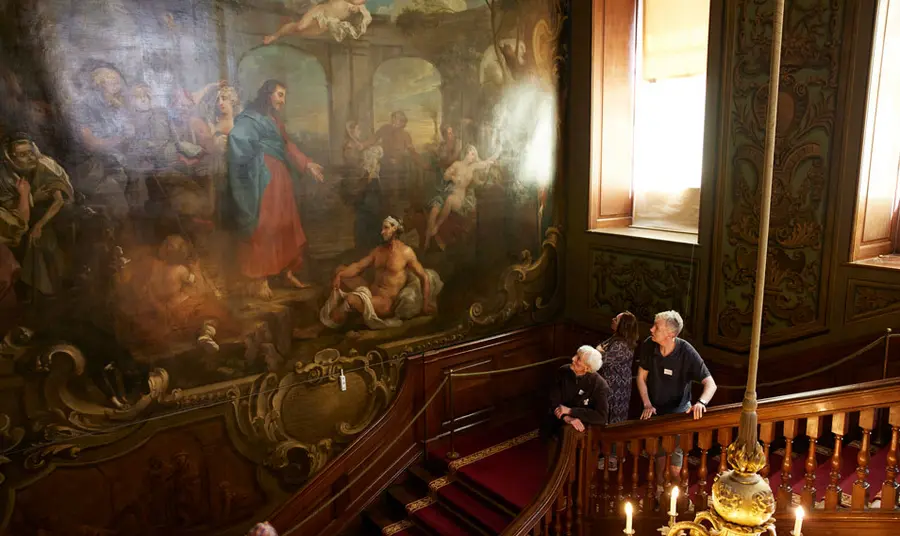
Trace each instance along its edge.
<instances>
[{"instance_id":1,"label":"long pale rod suspending the gold chandelier","mask_svg":"<svg viewBox=\"0 0 900 536\"><path fill-rule=\"evenodd\" d=\"M766 289L766 256L769 251L769 214L772 207L772 177L775 171L775 123L778 118L778 82L781 76L781 35L784 27L784 0L776 0L772 17L772 58L769 68L769 102L766 110L765 169L760 183L759 238L756 255L756 290L753 295L753 324L750 330L750 362L747 366L747 390L744 392L738 441L748 452L757 444L756 376L762 336L763 300Z\"/></svg>"}]
</instances>

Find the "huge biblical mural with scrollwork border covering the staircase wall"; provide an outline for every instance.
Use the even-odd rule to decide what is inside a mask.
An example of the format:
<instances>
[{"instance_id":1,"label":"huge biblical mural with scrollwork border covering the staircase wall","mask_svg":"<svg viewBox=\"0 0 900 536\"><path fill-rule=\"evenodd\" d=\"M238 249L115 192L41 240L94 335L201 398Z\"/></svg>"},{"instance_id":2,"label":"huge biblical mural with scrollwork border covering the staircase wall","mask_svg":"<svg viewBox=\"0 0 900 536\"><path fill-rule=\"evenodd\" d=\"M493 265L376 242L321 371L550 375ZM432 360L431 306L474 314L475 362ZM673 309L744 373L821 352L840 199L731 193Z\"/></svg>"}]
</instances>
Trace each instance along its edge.
<instances>
[{"instance_id":1,"label":"huge biblical mural with scrollwork border covering the staircase wall","mask_svg":"<svg viewBox=\"0 0 900 536\"><path fill-rule=\"evenodd\" d=\"M227 531L552 317L564 4L0 2L5 526Z\"/></svg>"}]
</instances>

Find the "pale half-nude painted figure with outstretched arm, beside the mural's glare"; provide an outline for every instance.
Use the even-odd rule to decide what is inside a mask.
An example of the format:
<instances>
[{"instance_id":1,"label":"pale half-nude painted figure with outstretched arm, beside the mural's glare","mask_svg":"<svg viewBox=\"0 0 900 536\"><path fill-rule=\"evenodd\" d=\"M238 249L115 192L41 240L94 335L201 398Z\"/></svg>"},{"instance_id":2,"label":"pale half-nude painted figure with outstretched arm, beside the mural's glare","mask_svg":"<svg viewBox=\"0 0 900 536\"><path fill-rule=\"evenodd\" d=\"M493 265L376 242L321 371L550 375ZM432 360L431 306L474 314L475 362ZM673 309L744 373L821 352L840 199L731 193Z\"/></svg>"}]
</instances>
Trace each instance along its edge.
<instances>
[{"instance_id":1,"label":"pale half-nude painted figure with outstretched arm, beside the mural's glare","mask_svg":"<svg viewBox=\"0 0 900 536\"><path fill-rule=\"evenodd\" d=\"M441 225L450 216L450 212L467 215L475 209L475 192L469 189L472 183L484 182L475 173L483 171L497 161L497 155L487 160L479 160L478 149L474 145L466 146L463 157L450 164L444 172L444 186L439 195L431 200L431 212L428 214L428 227L425 230L425 249L428 249L432 237L437 235Z\"/></svg>"}]
</instances>

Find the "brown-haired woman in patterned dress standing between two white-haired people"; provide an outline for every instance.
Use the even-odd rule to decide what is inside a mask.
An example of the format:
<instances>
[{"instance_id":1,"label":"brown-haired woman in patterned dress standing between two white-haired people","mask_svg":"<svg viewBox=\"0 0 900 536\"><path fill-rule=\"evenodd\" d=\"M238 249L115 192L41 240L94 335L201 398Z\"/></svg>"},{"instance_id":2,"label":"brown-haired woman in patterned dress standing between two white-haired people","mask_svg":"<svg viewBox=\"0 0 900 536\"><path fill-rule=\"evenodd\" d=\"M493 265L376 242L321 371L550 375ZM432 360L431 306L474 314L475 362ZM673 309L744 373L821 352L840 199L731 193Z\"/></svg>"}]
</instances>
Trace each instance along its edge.
<instances>
[{"instance_id":1,"label":"brown-haired woman in patterned dress standing between two white-haired people","mask_svg":"<svg viewBox=\"0 0 900 536\"><path fill-rule=\"evenodd\" d=\"M613 317L609 325L613 336L603 341L598 350L603 352L603 366L598 372L609 384L609 424L628 418L631 401L631 364L638 343L637 318L625 311ZM618 468L615 445L609 457L609 470Z\"/></svg>"}]
</instances>

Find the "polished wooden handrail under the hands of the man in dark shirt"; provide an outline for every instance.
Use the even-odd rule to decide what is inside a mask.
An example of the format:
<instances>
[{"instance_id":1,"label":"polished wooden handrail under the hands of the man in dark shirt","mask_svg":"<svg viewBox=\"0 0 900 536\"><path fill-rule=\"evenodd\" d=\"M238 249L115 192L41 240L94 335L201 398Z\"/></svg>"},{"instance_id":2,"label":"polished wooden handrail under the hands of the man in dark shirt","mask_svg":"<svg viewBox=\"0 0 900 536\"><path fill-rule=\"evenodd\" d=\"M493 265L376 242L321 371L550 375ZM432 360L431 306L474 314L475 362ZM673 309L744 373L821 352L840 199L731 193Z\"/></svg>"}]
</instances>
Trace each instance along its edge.
<instances>
[{"instance_id":1,"label":"polished wooden handrail under the hands of the man in dark shirt","mask_svg":"<svg viewBox=\"0 0 900 536\"><path fill-rule=\"evenodd\" d=\"M757 414L759 422L766 422L895 404L900 404L900 378L766 398L759 401ZM688 415L665 415L647 421L613 424L603 428L599 435L606 441L626 441L636 437L715 430L729 424L736 426L740 412L740 404L714 406L699 421L693 420Z\"/></svg>"}]
</instances>

